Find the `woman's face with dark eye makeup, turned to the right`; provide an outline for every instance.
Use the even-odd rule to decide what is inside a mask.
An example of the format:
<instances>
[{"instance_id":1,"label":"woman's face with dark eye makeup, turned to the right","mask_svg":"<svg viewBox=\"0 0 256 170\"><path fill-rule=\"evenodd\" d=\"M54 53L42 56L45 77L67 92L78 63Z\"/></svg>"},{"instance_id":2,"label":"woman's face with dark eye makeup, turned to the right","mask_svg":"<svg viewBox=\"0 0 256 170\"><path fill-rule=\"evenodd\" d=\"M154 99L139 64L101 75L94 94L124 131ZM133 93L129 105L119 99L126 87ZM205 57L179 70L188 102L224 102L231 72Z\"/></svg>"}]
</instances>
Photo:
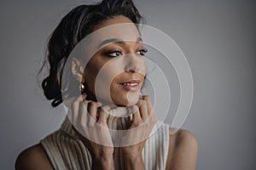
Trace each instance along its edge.
<instances>
[{"instance_id":1,"label":"woman's face with dark eye makeup, turned to the right","mask_svg":"<svg viewBox=\"0 0 256 170\"><path fill-rule=\"evenodd\" d=\"M124 23L131 24L116 26ZM84 69L84 80L98 101L135 105L146 74L143 42L137 27L125 16L105 20L95 27L95 31L105 26L113 26L105 34L113 35L111 39L118 41L108 41L92 55ZM132 41L125 41L127 39ZM102 42L105 42L105 38L102 38Z\"/></svg>"}]
</instances>

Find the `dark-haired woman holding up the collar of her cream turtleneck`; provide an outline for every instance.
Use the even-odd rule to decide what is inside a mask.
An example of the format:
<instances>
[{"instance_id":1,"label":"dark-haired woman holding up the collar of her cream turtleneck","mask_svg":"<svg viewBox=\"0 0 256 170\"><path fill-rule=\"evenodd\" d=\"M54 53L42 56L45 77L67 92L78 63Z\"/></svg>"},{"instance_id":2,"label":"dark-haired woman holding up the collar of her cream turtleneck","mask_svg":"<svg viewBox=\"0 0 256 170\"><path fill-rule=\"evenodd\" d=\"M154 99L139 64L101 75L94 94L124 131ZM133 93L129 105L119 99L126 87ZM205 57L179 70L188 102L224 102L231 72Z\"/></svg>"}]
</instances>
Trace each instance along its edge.
<instances>
[{"instance_id":1,"label":"dark-haired woman holding up the collar of her cream turtleneck","mask_svg":"<svg viewBox=\"0 0 256 170\"><path fill-rule=\"evenodd\" d=\"M129 37L133 41L108 42L92 54L85 67L83 59L72 58L69 68L73 80L70 81L77 87L80 84L81 94L73 94L70 119L66 118L59 130L39 144L23 150L16 160L17 170L195 169L197 141L193 133L179 129L171 135L170 127L164 123L150 135L158 122L150 97L140 94L146 77L143 55L147 50L134 24L141 20L142 16L129 0L81 5L61 20L49 39L49 77L42 83L44 95L53 99L53 106L64 101L62 71L73 48L84 37L118 25L104 35L119 40ZM122 24L124 27L120 29ZM102 78L98 84L109 83L107 89L96 88L100 72ZM119 117L122 114L126 115ZM128 131L119 138L113 137L111 129Z\"/></svg>"}]
</instances>

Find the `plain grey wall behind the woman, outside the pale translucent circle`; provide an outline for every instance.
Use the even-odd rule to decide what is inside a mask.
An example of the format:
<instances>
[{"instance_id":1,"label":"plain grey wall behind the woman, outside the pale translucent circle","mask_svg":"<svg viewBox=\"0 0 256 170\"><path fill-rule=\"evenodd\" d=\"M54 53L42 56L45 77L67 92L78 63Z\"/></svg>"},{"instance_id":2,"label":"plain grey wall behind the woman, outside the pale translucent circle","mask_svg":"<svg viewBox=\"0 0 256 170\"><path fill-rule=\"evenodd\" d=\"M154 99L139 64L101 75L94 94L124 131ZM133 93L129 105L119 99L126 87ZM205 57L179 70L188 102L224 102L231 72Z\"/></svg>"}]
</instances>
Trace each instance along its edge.
<instances>
[{"instance_id":1,"label":"plain grey wall behind the woman, outside the pale translucent circle","mask_svg":"<svg viewBox=\"0 0 256 170\"><path fill-rule=\"evenodd\" d=\"M1 1L1 169L63 120L36 83L45 42L64 14L91 1ZM182 48L194 77L183 128L199 141L197 169L256 169L256 3L231 0L135 1L148 25ZM172 120L167 120L172 122Z\"/></svg>"}]
</instances>

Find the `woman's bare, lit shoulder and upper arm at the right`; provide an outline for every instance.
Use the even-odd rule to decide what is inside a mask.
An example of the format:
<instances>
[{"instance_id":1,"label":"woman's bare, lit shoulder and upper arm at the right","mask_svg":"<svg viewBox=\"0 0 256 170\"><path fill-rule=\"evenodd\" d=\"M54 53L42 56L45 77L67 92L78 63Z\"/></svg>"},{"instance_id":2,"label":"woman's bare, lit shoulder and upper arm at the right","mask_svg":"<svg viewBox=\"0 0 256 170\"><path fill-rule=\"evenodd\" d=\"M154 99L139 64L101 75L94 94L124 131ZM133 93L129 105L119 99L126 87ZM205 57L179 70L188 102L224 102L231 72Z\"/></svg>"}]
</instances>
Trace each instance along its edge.
<instances>
[{"instance_id":1,"label":"woman's bare, lit shoulder and upper arm at the right","mask_svg":"<svg viewBox=\"0 0 256 170\"><path fill-rule=\"evenodd\" d=\"M195 170L197 154L198 141L195 134L178 129L176 133L170 134L166 169Z\"/></svg>"}]
</instances>

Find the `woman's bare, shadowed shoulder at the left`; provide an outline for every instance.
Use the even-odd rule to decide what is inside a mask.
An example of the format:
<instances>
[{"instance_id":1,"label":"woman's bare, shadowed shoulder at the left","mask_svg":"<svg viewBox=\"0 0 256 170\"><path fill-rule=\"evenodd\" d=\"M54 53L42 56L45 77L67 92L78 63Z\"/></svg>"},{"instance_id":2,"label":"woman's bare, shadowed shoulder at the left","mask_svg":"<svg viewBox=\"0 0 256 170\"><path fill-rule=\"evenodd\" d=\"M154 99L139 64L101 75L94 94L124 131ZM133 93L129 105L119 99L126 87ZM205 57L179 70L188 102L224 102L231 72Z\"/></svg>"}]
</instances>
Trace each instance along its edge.
<instances>
[{"instance_id":1,"label":"woman's bare, shadowed shoulder at the left","mask_svg":"<svg viewBox=\"0 0 256 170\"><path fill-rule=\"evenodd\" d=\"M52 170L49 159L41 144L35 144L20 152L15 162L16 170Z\"/></svg>"}]
</instances>

